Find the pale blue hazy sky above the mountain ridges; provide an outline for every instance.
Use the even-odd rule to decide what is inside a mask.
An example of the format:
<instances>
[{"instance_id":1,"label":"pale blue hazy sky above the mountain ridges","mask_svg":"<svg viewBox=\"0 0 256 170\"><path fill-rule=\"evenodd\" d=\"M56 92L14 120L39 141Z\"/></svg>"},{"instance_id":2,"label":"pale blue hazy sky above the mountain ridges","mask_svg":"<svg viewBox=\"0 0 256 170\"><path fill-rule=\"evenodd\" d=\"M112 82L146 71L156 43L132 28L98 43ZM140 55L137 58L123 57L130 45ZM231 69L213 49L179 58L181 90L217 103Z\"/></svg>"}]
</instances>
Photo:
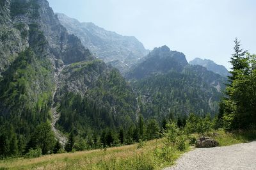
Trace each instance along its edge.
<instances>
[{"instance_id":1,"label":"pale blue hazy sky above the mountain ridges","mask_svg":"<svg viewBox=\"0 0 256 170\"><path fill-rule=\"evenodd\" d=\"M255 0L49 0L54 12L121 35L153 49L168 45L193 58L230 67L233 40L256 52Z\"/></svg>"}]
</instances>

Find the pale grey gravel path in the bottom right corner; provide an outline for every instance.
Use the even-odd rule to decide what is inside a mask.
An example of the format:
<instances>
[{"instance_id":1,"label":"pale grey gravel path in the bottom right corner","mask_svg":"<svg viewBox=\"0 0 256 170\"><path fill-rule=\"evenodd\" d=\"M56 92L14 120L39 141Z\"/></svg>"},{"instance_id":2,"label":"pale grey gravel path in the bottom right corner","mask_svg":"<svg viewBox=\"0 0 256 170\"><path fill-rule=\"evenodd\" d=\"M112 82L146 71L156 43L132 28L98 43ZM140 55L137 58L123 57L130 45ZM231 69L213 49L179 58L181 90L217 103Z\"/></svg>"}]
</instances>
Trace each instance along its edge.
<instances>
[{"instance_id":1,"label":"pale grey gravel path in the bottom right corner","mask_svg":"<svg viewBox=\"0 0 256 170\"><path fill-rule=\"evenodd\" d=\"M216 148L196 148L171 169L256 169L256 141Z\"/></svg>"}]
</instances>

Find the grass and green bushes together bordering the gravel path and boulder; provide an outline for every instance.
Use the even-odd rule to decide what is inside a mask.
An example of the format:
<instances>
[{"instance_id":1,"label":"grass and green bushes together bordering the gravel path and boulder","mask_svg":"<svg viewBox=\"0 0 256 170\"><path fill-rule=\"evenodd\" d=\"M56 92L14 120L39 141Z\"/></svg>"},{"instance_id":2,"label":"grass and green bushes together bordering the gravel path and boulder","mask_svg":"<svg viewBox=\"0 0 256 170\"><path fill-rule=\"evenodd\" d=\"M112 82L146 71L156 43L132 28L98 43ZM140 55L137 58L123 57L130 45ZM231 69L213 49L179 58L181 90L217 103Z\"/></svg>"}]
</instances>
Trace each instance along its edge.
<instances>
[{"instance_id":1,"label":"grass and green bushes together bordering the gravel path and boulder","mask_svg":"<svg viewBox=\"0 0 256 170\"><path fill-rule=\"evenodd\" d=\"M140 140L136 144L89 151L74 151L38 158L1 160L1 169L163 169L194 148L202 135L212 137L220 146L245 143L256 137L256 130L227 132L216 127L216 119L190 114L184 127L170 120L161 129L160 139ZM36 155L38 156L38 155Z\"/></svg>"}]
</instances>

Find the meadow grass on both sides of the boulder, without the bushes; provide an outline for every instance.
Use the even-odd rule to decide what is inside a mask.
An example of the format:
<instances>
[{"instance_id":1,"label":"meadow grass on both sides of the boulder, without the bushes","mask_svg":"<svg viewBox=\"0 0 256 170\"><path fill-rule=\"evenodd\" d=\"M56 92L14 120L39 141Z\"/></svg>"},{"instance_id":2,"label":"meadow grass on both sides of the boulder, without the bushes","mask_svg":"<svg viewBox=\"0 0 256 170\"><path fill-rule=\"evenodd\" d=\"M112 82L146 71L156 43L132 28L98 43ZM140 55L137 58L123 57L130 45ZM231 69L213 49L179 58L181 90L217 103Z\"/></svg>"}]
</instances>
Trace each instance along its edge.
<instances>
[{"instance_id":1,"label":"meadow grass on both sides of the boulder, without the bushes","mask_svg":"<svg viewBox=\"0 0 256 170\"><path fill-rule=\"evenodd\" d=\"M194 134L194 136L199 137L200 135ZM256 130L236 133L218 130L210 137L216 139L220 146L227 146L256 139ZM0 169L163 169L172 166L175 160L190 148L188 143L186 143L184 151L166 148L164 139L155 139L105 150L77 151L30 159L1 160Z\"/></svg>"}]
</instances>

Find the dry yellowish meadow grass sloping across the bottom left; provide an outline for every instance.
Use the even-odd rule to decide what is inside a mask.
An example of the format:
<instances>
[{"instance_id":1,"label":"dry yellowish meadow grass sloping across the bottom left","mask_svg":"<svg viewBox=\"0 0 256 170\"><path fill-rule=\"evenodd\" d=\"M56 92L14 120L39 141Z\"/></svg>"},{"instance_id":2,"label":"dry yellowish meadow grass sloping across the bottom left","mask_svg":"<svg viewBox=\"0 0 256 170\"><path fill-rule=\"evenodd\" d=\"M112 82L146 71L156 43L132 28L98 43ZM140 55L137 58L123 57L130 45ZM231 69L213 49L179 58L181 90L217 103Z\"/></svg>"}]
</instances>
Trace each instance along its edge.
<instances>
[{"instance_id":1,"label":"dry yellowish meadow grass sloping across the bottom left","mask_svg":"<svg viewBox=\"0 0 256 170\"><path fill-rule=\"evenodd\" d=\"M125 169L125 164L127 167L132 167L132 164L138 164L138 161L141 163L144 161L145 165L150 164L150 167L154 167L157 160L153 153L156 148L163 146L163 139L148 141L140 149L137 146L138 144L132 144L106 150L77 151L30 159L17 158L1 161L0 167L7 169L112 169L112 167L123 169L124 167Z\"/></svg>"}]
</instances>

